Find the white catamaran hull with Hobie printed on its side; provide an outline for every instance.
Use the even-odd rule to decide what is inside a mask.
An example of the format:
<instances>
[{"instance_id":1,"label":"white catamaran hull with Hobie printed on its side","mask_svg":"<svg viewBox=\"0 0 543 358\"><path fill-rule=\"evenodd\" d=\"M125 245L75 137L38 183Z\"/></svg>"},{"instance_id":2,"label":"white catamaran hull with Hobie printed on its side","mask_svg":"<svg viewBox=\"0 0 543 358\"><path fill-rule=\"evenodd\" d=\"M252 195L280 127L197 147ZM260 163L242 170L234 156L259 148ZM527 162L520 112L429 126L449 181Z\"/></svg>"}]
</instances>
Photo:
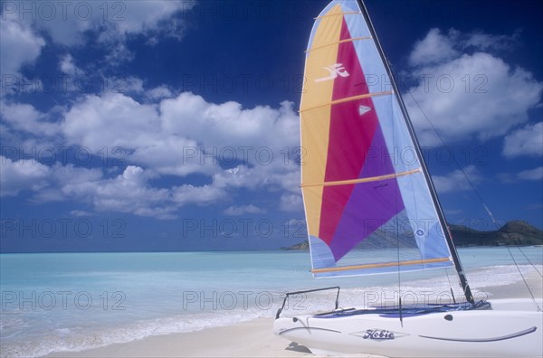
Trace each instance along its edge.
<instances>
[{"instance_id":1,"label":"white catamaran hull with Hobie printed on its side","mask_svg":"<svg viewBox=\"0 0 543 358\"><path fill-rule=\"evenodd\" d=\"M398 317L291 316L273 332L312 353L373 353L389 357L541 357L543 313L532 300L491 302L490 310ZM538 305L541 307L541 300Z\"/></svg>"}]
</instances>

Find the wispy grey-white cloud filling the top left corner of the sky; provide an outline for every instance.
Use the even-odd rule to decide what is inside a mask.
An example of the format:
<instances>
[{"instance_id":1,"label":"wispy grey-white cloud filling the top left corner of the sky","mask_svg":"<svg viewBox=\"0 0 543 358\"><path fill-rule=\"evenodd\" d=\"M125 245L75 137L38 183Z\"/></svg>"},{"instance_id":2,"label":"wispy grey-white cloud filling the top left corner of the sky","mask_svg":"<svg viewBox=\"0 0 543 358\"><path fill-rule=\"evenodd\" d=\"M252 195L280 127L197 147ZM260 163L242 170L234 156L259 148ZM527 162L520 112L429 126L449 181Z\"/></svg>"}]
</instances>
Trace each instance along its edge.
<instances>
[{"instance_id":1,"label":"wispy grey-white cloud filling the top left corner of the sky","mask_svg":"<svg viewBox=\"0 0 543 358\"><path fill-rule=\"evenodd\" d=\"M90 34L110 49L108 61L130 60L129 36L144 35L151 43L163 37L180 39L185 23L176 15L194 6L194 0L9 2L0 21L0 69L18 74L21 66L39 57L44 38L77 47L88 42Z\"/></svg>"}]
</instances>

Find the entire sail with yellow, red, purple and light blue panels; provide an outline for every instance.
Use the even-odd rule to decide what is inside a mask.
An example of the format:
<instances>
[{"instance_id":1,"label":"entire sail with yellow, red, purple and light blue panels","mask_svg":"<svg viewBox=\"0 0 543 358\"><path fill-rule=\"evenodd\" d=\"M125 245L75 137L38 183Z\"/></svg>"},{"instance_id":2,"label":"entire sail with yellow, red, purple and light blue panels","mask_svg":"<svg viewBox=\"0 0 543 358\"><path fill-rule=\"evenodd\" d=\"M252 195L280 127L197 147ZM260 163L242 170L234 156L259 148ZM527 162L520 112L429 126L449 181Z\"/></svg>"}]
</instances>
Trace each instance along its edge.
<instances>
[{"instance_id":1,"label":"entire sail with yellow, red, purple and light blue panels","mask_svg":"<svg viewBox=\"0 0 543 358\"><path fill-rule=\"evenodd\" d=\"M357 2L332 1L310 35L300 105L315 277L452 266L393 87Z\"/></svg>"}]
</instances>

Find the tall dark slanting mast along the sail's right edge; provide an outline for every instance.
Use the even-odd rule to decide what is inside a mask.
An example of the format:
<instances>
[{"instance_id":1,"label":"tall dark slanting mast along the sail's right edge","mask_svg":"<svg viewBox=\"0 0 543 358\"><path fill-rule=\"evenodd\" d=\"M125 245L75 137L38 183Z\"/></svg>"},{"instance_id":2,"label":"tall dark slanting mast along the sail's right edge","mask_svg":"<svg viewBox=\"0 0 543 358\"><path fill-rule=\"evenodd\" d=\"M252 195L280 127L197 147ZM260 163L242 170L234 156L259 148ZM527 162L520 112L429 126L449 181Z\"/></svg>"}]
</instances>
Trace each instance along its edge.
<instances>
[{"instance_id":1,"label":"tall dark slanting mast along the sail's right edge","mask_svg":"<svg viewBox=\"0 0 543 358\"><path fill-rule=\"evenodd\" d=\"M383 61L386 69L386 73L388 74L388 77L390 78L390 81L392 83L392 88L395 93L395 98L398 100L398 103L400 105L400 109L402 110L402 114L405 118L405 124L407 126L407 130L409 132L409 135L411 136L411 139L414 143L414 149L416 154L419 157L419 160L421 162L421 166L423 169L424 179L426 180L426 184L430 188L430 194L432 196L433 205L435 207L435 210L437 212L437 216L439 218L439 221L441 222L443 233L445 235L445 240L447 242L447 245L449 247L449 250L451 251L452 255L452 262L454 263L454 268L456 269L456 272L458 273L458 277L460 278L460 283L462 285L463 293L466 297L466 300L472 304L475 303L475 300L472 295L472 289L470 288L470 285L468 284L468 279L465 276L465 273L462 269L462 262L460 261L460 258L458 257L458 252L456 251L456 247L454 246L454 243L452 242L452 235L451 231L449 231L449 226L447 225L447 221L445 220L445 215L443 213L443 209L441 206L441 203L439 203L439 199L437 197L437 193L435 191L435 187L433 185L432 177L430 176L428 172L428 168L426 167L426 163L424 162L424 157L421 152L421 148L418 142L418 139L414 133L414 127L411 123L411 118L409 118L409 114L407 113L407 109L405 108L404 100L402 99L402 96L400 95L400 92L397 88L395 78L393 76L392 70L390 69L390 64L386 60L385 52L383 52L383 48L381 47L381 43L379 42L379 39L377 37L376 31L373 27L373 24L371 23L371 19L369 17L369 14L367 13L366 5L362 2L362 0L357 0L358 7L360 8L360 11L364 15L367 27L369 29L369 33L373 37L376 43L377 52L379 52L379 56L381 57L381 60Z\"/></svg>"}]
</instances>

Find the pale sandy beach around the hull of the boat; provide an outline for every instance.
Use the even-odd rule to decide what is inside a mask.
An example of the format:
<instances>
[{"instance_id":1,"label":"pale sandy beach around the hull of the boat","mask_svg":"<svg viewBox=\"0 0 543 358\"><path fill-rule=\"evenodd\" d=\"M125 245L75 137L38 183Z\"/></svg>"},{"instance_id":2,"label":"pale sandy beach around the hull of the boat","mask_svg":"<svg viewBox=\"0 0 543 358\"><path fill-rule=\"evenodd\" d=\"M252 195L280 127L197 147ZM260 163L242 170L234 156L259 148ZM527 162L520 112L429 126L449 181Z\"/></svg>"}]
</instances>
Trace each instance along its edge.
<instances>
[{"instance_id":1,"label":"pale sandy beach around the hull of the boat","mask_svg":"<svg viewBox=\"0 0 543 358\"><path fill-rule=\"evenodd\" d=\"M535 297L543 297L543 282L537 273L527 278ZM490 300L530 297L524 282L483 287ZM273 318L260 318L237 325L202 331L151 336L142 340L111 344L81 352L58 352L48 357L310 357L310 351L271 333ZM379 357L371 354L356 357Z\"/></svg>"}]
</instances>

